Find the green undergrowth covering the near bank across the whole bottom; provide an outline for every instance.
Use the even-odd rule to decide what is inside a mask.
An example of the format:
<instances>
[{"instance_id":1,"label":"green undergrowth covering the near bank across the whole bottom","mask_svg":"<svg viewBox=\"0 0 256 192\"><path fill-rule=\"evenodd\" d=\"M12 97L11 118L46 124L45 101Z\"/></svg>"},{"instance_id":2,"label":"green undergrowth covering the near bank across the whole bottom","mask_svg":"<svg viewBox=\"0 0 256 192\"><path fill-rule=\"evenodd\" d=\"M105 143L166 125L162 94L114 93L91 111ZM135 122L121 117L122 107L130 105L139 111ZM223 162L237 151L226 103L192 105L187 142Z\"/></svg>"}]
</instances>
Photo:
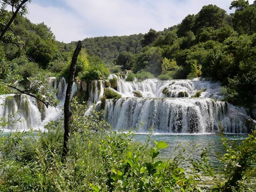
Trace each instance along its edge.
<instances>
[{"instance_id":1,"label":"green undergrowth covering the near bank across the whole bottom","mask_svg":"<svg viewBox=\"0 0 256 192\"><path fill-rule=\"evenodd\" d=\"M186 152L192 151L183 148L170 159L160 159L166 142L152 143L151 134L142 144L132 141L131 132L106 133L110 126L102 119L103 112L85 117L86 108L76 100L72 108L70 153L63 163L62 119L50 122L48 131L37 135L0 136L1 191L252 191L248 181L255 173L256 131L240 145L222 139L224 180L219 180L210 168L207 150L191 158ZM187 168L182 168L184 163ZM213 187L200 185L204 175L212 179Z\"/></svg>"}]
</instances>

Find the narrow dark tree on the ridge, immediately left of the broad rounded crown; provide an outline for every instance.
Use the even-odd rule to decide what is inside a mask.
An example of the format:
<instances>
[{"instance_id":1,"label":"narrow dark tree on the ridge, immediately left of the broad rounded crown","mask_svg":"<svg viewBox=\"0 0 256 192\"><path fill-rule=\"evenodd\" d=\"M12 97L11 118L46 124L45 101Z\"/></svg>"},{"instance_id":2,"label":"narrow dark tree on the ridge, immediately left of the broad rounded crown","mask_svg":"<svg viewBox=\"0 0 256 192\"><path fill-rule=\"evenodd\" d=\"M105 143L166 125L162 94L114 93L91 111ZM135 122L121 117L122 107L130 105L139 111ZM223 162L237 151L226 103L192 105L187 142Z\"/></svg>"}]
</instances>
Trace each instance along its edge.
<instances>
[{"instance_id":1,"label":"narrow dark tree on the ridge, immediately left of the broad rounded crown","mask_svg":"<svg viewBox=\"0 0 256 192\"><path fill-rule=\"evenodd\" d=\"M186 33L190 30L192 30L193 26L195 24L195 16L193 15L188 15L186 16L181 24L178 26L178 31L177 34L179 37L185 36Z\"/></svg>"}]
</instances>

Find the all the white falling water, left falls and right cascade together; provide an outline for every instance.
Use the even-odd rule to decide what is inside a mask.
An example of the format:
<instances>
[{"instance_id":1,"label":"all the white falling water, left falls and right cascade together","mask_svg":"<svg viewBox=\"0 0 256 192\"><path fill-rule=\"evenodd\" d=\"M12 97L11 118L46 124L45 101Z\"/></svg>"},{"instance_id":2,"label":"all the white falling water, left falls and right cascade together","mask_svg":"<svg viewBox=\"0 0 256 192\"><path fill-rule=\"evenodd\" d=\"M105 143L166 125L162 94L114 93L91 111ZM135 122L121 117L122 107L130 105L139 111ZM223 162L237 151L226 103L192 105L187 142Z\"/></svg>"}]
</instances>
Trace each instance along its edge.
<instances>
[{"instance_id":1,"label":"all the white falling water, left falls and right cascade together","mask_svg":"<svg viewBox=\"0 0 256 192\"><path fill-rule=\"evenodd\" d=\"M111 75L110 78L117 78ZM60 78L50 78L56 98L60 100L57 108L43 106L40 111L38 102L26 95L7 94L0 96L0 114L7 119L20 118L14 127L7 130L43 129L50 120L62 116L67 84ZM81 85L81 83L80 83ZM104 92L104 82L92 81L86 84L90 114L93 104L100 105ZM78 83L72 87L72 95L78 89ZM84 89L84 88L83 88ZM111 88L112 89L112 88ZM166 90L167 94L163 93ZM192 98L200 89L206 89L199 98ZM113 91L116 91L112 89ZM136 98L134 91L139 91L142 98ZM219 122L227 133L247 133L246 122L250 119L244 108L237 108L222 102L220 84L196 78L194 80L160 81L147 79L143 82L126 82L118 79L117 91L122 95L119 100L106 100L106 120L116 129L128 130L140 127L140 132L148 132L153 127L157 133L215 133L219 130ZM186 94L185 94L186 93ZM187 96L187 97L181 97ZM11 117L16 114L16 117ZM251 120L250 120L251 121ZM252 122L252 121L251 121ZM142 123L142 125L141 125Z\"/></svg>"}]
</instances>

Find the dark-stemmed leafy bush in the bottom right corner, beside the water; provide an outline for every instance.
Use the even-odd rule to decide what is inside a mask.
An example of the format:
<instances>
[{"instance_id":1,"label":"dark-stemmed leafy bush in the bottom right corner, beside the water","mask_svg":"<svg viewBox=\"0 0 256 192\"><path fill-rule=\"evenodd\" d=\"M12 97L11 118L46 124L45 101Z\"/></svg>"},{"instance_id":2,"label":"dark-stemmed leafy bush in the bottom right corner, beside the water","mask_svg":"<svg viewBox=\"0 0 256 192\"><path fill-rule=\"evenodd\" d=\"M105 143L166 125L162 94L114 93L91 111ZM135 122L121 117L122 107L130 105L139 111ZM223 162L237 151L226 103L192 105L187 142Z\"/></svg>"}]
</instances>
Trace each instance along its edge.
<instances>
[{"instance_id":1,"label":"dark-stemmed leafy bush in the bottom right corner, beside the water","mask_svg":"<svg viewBox=\"0 0 256 192\"><path fill-rule=\"evenodd\" d=\"M213 191L252 191L245 181L256 171L256 130L249 134L240 145L234 142L230 144L222 135L222 144L226 154L220 157L220 160L224 163L226 177L224 182L218 182Z\"/></svg>"}]
</instances>

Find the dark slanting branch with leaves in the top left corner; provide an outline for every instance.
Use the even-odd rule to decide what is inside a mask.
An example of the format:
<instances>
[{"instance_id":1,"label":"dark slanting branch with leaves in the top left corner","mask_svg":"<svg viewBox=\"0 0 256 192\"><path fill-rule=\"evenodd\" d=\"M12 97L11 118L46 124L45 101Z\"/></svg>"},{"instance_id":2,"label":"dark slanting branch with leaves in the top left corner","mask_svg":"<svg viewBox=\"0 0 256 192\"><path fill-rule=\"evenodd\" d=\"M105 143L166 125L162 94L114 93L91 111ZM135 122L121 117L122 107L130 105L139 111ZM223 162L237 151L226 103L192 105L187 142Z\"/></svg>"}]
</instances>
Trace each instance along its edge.
<instances>
[{"instance_id":1,"label":"dark slanting branch with leaves in the top left corner","mask_svg":"<svg viewBox=\"0 0 256 192\"><path fill-rule=\"evenodd\" d=\"M0 34L0 42L2 41L2 38L4 37L4 34L9 30L12 22L14 21L14 18L16 18L17 14L20 12L21 14L26 13L27 9L27 2L30 2L30 0L1 0L2 6L11 6L12 8L12 17L10 18L9 22L5 24L6 26L1 30ZM14 9L15 12L14 12ZM3 22L1 19L0 22Z\"/></svg>"}]
</instances>

